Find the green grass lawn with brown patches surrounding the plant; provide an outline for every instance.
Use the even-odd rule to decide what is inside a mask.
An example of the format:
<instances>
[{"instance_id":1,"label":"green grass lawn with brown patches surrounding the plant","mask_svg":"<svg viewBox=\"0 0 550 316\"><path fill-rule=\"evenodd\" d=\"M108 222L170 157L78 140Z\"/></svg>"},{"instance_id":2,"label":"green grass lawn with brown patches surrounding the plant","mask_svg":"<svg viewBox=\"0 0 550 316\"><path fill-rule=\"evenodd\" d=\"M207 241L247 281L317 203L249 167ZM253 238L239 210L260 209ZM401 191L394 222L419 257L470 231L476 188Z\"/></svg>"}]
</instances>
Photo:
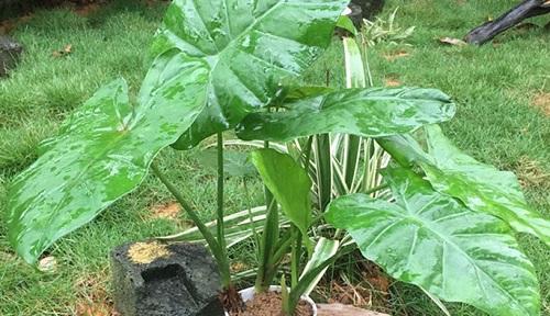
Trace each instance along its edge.
<instances>
[{"instance_id":1,"label":"green grass lawn with brown patches surrounding the plant","mask_svg":"<svg viewBox=\"0 0 550 316\"><path fill-rule=\"evenodd\" d=\"M369 50L369 58L376 86L435 87L452 95L458 114L443 126L447 134L475 158L517 172L531 205L550 216L550 32L512 31L483 47L443 46L437 41L462 37L515 2L389 1L384 14L399 5L397 23L417 27L407 40L411 46L381 44ZM68 9L40 11L16 26L12 35L23 43L25 54L11 77L0 80L0 205L10 179L36 158L37 144L98 87L123 76L135 94L148 67L146 47L164 8L114 1L86 16ZM67 45L70 54L53 56ZM331 84L341 86L337 42L305 80L323 83L327 69ZM215 177L198 163L196 154L165 150L161 163L176 170L170 177L184 183L201 215L210 218ZM228 182L228 210L244 208L242 183ZM252 192L256 204L258 193L258 189ZM162 185L147 178L141 189L48 250L57 261L53 273L38 272L13 255L4 238L6 222L0 219L0 315L107 315L100 313L108 309L103 302L110 291L109 249L186 227L183 215L160 218L162 206L170 202ZM550 315L550 250L529 236L519 239L538 269L543 313ZM391 290L394 315L441 315L413 286L396 283ZM484 315L464 305L449 306L452 315Z\"/></svg>"}]
</instances>

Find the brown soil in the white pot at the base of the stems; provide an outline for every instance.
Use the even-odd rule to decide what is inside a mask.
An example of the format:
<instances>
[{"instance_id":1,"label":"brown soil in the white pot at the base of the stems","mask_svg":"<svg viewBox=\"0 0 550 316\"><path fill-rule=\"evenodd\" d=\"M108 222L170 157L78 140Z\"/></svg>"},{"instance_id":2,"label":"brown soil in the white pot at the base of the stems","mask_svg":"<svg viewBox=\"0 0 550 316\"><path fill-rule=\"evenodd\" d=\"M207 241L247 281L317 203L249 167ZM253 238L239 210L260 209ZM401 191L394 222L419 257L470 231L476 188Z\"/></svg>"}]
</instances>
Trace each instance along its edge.
<instances>
[{"instance_id":1,"label":"brown soil in the white pot at the base of the stems","mask_svg":"<svg viewBox=\"0 0 550 316\"><path fill-rule=\"evenodd\" d=\"M266 292L254 296L254 300L246 302L246 307L243 312L232 313L232 316L283 316L280 293ZM311 306L300 301L296 307L296 316L311 316L314 311Z\"/></svg>"}]
</instances>

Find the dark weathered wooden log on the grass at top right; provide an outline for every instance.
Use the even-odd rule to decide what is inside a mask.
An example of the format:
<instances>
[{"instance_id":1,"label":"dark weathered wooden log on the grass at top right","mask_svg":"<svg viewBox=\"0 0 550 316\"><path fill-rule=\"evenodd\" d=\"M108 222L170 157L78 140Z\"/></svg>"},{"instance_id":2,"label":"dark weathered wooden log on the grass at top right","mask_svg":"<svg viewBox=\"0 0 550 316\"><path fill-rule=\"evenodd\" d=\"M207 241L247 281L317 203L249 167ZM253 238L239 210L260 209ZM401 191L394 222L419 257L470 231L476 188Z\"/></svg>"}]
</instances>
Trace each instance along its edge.
<instances>
[{"instance_id":1,"label":"dark weathered wooden log on the grass at top right","mask_svg":"<svg viewBox=\"0 0 550 316\"><path fill-rule=\"evenodd\" d=\"M495 21L486 22L472 30L465 36L465 41L470 44L483 45L525 19L547 13L550 13L550 0L525 0Z\"/></svg>"}]
</instances>

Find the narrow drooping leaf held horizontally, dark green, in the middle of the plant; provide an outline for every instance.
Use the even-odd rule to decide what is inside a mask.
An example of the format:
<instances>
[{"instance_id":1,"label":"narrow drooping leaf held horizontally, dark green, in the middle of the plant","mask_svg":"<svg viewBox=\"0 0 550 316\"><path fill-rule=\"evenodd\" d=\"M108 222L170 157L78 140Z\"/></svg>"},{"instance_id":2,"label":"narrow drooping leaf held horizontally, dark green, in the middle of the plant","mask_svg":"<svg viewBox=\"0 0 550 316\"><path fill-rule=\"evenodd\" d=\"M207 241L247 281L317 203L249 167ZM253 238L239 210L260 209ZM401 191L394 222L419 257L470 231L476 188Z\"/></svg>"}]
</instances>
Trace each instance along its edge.
<instances>
[{"instance_id":1,"label":"narrow drooping leaf held horizontally, dark green, in the middle of the plant","mask_svg":"<svg viewBox=\"0 0 550 316\"><path fill-rule=\"evenodd\" d=\"M285 104L283 112L252 113L238 126L242 139L288 142L322 133L381 137L415 131L454 115L435 89L346 89Z\"/></svg>"}]
</instances>

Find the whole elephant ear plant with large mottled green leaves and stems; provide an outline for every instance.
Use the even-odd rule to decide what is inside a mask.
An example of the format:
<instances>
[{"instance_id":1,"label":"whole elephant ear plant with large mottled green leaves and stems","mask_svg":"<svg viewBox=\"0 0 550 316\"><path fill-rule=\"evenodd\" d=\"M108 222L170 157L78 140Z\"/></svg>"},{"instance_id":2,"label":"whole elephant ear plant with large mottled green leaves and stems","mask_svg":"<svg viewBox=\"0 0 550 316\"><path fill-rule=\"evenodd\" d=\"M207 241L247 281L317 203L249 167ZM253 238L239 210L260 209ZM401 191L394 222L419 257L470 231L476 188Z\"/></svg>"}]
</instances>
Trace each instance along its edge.
<instances>
[{"instance_id":1,"label":"whole elephant ear plant with large mottled green leaves and stems","mask_svg":"<svg viewBox=\"0 0 550 316\"><path fill-rule=\"evenodd\" d=\"M436 297L494 315L538 315L534 267L510 227L548 245L549 223L529 210L512 173L460 153L433 125L454 115L448 95L419 88L282 86L329 45L346 2L174 1L136 104L129 101L123 80L101 88L14 179L8 235L18 253L35 262L55 240L134 190L151 168L205 237L220 268L226 306L239 309L226 247L222 132L234 128L240 138L266 145L341 133L374 138L389 153L394 162L383 176L393 200L369 192L328 199L317 210L328 223L346 230L361 252L391 275ZM218 212L210 230L153 160L169 145L187 149L213 134ZM317 257L323 247L314 249L309 240L317 222L306 171L273 149L253 153L252 161L268 189L265 228L255 238L255 287L265 291L290 252L289 291L284 278L280 283L284 311L292 314L297 297L339 255ZM278 205L290 223L284 232ZM300 273L304 249L314 263Z\"/></svg>"}]
</instances>

